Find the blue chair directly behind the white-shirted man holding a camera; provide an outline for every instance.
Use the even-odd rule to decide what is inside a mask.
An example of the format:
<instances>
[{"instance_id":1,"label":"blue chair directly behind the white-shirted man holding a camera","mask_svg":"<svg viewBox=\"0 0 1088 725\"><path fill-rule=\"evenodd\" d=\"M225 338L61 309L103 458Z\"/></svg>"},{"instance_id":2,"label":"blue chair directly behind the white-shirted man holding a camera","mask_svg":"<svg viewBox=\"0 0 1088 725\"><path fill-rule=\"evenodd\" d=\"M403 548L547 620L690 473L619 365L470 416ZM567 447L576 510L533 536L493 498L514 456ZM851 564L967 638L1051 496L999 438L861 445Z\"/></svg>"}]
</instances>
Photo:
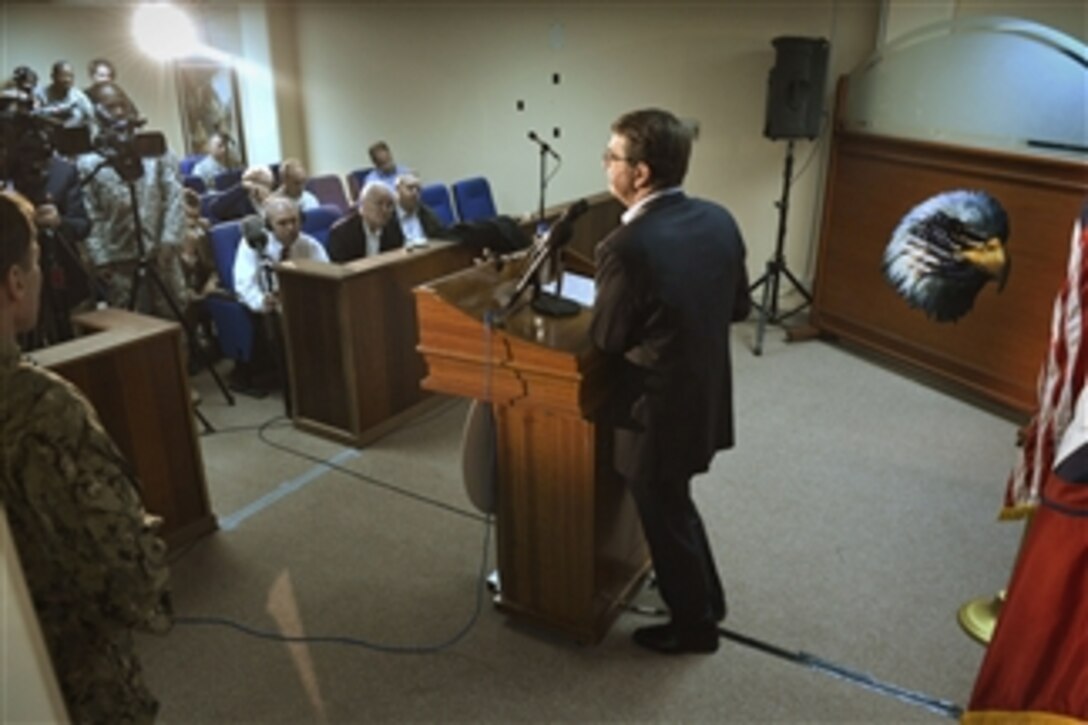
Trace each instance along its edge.
<instances>
[{"instance_id":1,"label":"blue chair directly behind the white-shirted man holding a camera","mask_svg":"<svg viewBox=\"0 0 1088 725\"><path fill-rule=\"evenodd\" d=\"M215 325L223 356L236 362L249 362L254 355L254 321L234 291L234 258L242 244L242 223L215 224L209 234L220 290L205 297L205 306Z\"/></svg>"}]
</instances>

